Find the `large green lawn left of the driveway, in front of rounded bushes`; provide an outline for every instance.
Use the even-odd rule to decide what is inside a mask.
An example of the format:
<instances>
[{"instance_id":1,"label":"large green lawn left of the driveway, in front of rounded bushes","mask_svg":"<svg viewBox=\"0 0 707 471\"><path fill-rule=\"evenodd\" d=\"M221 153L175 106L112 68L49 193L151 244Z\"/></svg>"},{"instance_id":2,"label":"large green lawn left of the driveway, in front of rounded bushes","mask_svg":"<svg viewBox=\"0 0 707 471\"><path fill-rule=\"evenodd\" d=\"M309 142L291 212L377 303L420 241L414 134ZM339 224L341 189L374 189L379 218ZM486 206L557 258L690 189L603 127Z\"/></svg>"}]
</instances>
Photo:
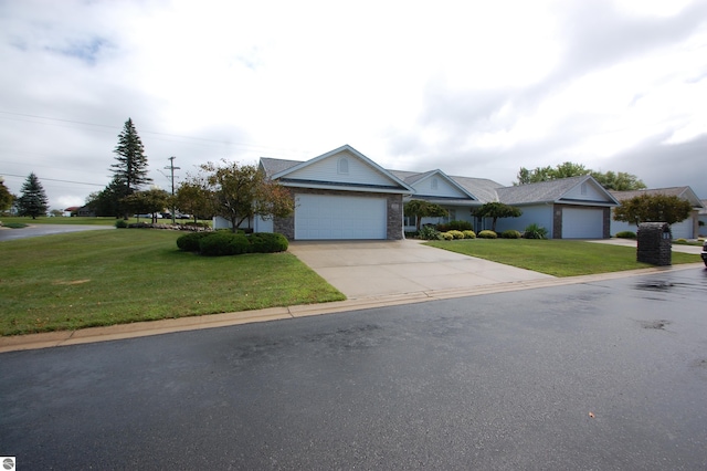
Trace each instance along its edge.
<instances>
[{"instance_id":1,"label":"large green lawn left of the driveway, in front of rounded bushes","mask_svg":"<svg viewBox=\"0 0 707 471\"><path fill-rule=\"evenodd\" d=\"M0 335L345 299L291 253L205 258L179 251L179 236L122 229L0 242Z\"/></svg>"}]
</instances>

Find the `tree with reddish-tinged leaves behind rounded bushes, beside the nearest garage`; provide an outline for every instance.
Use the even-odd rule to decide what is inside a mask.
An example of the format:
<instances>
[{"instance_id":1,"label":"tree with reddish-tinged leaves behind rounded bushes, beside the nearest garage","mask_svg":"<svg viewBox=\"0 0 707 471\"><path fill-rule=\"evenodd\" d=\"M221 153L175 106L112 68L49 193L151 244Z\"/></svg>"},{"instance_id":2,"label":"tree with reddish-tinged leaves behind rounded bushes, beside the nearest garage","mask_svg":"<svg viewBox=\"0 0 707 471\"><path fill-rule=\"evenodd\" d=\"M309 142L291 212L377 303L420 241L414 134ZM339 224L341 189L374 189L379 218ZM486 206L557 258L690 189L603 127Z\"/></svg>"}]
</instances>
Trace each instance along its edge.
<instances>
[{"instance_id":1,"label":"tree with reddish-tinged leaves behind rounded bushes, beside the nearest garage","mask_svg":"<svg viewBox=\"0 0 707 471\"><path fill-rule=\"evenodd\" d=\"M253 165L239 165L221 160L221 164L202 165L203 177L211 192L213 211L228 219L235 232L245 220L255 216L263 219L285 218L295 210L295 201L287 189L268 180L265 174Z\"/></svg>"}]
</instances>

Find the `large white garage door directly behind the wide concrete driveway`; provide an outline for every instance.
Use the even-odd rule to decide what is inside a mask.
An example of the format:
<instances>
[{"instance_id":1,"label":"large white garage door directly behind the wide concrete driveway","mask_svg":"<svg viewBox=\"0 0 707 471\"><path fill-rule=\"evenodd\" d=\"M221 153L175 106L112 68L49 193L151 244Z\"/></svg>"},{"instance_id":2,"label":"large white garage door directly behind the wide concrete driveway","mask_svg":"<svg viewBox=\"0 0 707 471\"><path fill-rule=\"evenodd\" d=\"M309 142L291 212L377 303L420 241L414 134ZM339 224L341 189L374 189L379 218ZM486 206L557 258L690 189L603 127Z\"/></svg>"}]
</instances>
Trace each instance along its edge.
<instances>
[{"instance_id":1,"label":"large white garage door directly behind the wide concrete driveway","mask_svg":"<svg viewBox=\"0 0 707 471\"><path fill-rule=\"evenodd\" d=\"M386 239L386 198L296 195L295 239Z\"/></svg>"}]
</instances>

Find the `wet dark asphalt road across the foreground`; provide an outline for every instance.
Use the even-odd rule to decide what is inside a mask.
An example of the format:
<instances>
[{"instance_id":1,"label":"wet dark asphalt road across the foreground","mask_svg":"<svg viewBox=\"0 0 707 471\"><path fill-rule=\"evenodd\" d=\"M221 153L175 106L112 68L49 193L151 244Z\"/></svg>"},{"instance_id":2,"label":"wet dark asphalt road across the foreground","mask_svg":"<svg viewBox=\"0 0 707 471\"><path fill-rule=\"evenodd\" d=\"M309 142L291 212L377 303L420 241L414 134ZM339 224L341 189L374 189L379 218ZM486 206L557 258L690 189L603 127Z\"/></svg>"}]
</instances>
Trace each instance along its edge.
<instances>
[{"instance_id":1,"label":"wet dark asphalt road across the foreground","mask_svg":"<svg viewBox=\"0 0 707 471\"><path fill-rule=\"evenodd\" d=\"M18 469L707 468L707 271L0 354Z\"/></svg>"}]
</instances>

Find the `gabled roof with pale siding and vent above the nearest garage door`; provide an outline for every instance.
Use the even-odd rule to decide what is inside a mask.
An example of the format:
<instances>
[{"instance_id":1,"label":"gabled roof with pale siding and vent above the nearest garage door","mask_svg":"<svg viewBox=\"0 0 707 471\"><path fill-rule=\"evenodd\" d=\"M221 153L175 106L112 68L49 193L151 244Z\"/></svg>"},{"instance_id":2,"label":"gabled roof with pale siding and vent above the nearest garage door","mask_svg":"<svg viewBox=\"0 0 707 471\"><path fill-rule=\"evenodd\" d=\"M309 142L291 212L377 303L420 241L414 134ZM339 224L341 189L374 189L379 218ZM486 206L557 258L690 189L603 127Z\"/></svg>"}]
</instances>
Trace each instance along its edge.
<instances>
[{"instance_id":1,"label":"gabled roof with pale siding and vent above the nearest garage door","mask_svg":"<svg viewBox=\"0 0 707 471\"><path fill-rule=\"evenodd\" d=\"M378 181L355 181L352 178L338 178L340 176L337 177L336 175L334 175L334 172L330 171L328 174L326 171L321 172L321 166L318 165L323 163L323 165L326 167L328 165L326 160L329 158L336 158L337 156L344 156L346 158L352 157L358 163L360 163L358 164L359 170L365 169L366 175L372 177ZM400 193L414 192L414 190L408 184L405 184L400 178L386 170L348 144L306 161L261 158L261 167L265 170L265 174L268 178L278 180L281 184L292 187L330 189L339 188L348 190L371 189L382 192ZM319 171L315 169L318 169ZM314 176L315 174L316 176Z\"/></svg>"}]
</instances>

